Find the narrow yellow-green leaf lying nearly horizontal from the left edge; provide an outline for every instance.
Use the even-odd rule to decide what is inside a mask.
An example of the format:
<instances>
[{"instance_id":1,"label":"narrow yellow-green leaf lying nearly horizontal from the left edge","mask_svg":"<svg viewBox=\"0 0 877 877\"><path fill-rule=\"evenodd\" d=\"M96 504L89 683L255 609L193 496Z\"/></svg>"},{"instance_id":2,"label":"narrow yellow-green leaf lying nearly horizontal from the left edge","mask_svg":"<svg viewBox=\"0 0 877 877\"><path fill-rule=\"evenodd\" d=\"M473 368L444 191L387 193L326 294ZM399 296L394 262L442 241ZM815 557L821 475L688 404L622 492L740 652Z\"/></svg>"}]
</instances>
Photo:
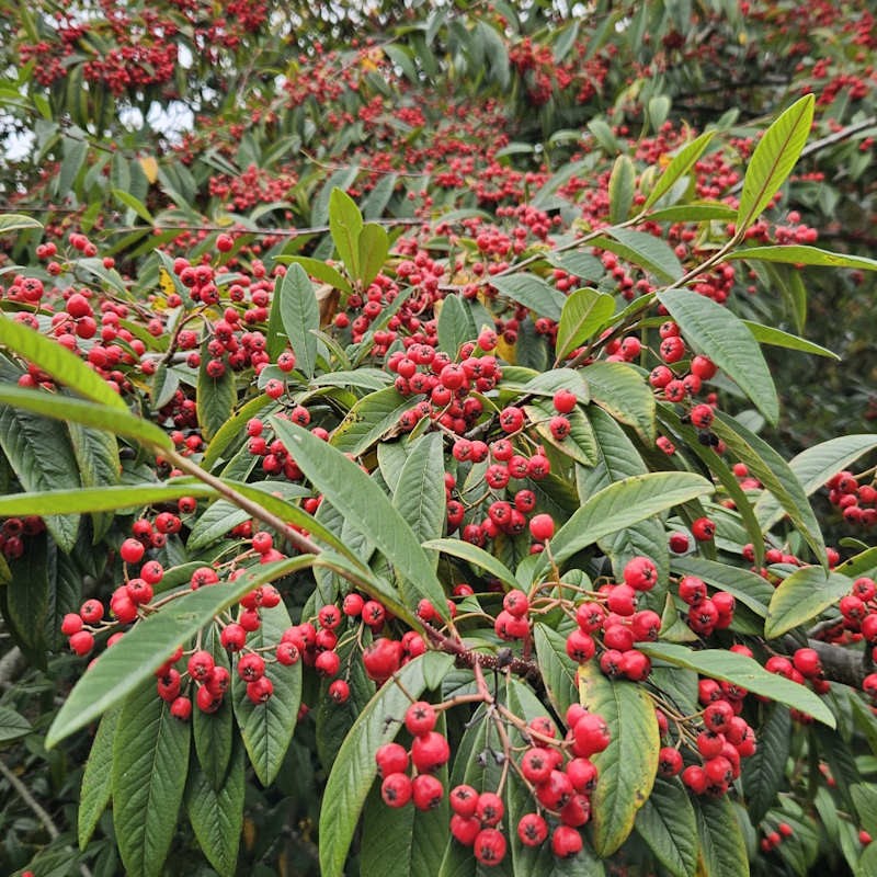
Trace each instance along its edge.
<instances>
[{"instance_id":1,"label":"narrow yellow-green leaf lying nearly horizontal from the left edge","mask_svg":"<svg viewBox=\"0 0 877 877\"><path fill-rule=\"evenodd\" d=\"M45 490L35 493L11 493L0 497L0 515L77 514L130 509L172 502L180 497L214 497L216 491L205 485L123 485L90 490Z\"/></svg>"}]
</instances>

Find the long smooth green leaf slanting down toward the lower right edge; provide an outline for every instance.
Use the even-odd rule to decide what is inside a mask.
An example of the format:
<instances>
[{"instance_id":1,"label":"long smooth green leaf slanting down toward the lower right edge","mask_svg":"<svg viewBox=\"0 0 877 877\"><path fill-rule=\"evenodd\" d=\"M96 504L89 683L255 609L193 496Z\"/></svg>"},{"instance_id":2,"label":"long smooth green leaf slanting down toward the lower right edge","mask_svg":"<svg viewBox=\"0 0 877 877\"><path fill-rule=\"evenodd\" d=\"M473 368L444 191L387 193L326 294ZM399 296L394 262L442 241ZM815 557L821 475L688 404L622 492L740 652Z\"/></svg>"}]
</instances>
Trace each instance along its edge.
<instances>
[{"instance_id":1,"label":"long smooth green leaf slanting down toward the lower right edge","mask_svg":"<svg viewBox=\"0 0 877 877\"><path fill-rule=\"evenodd\" d=\"M642 642L637 648L652 660L667 661L674 667L696 670L710 679L730 682L778 704L808 713L830 728L835 726L834 715L813 692L785 676L768 673L758 661L744 654L726 649L695 651L670 642Z\"/></svg>"}]
</instances>

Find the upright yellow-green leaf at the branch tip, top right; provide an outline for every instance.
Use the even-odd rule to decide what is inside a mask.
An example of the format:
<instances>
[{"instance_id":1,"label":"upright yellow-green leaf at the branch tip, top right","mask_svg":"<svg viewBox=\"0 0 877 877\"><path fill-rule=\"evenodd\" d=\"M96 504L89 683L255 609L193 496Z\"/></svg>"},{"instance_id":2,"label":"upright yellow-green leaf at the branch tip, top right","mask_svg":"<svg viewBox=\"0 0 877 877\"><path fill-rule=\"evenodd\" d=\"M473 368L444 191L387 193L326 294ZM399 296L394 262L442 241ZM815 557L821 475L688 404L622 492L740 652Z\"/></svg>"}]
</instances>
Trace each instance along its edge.
<instances>
[{"instance_id":1,"label":"upright yellow-green leaf at the branch tip, top right","mask_svg":"<svg viewBox=\"0 0 877 877\"><path fill-rule=\"evenodd\" d=\"M755 147L740 194L738 235L742 235L759 218L791 173L810 135L813 105L812 94L796 101L767 128Z\"/></svg>"}]
</instances>

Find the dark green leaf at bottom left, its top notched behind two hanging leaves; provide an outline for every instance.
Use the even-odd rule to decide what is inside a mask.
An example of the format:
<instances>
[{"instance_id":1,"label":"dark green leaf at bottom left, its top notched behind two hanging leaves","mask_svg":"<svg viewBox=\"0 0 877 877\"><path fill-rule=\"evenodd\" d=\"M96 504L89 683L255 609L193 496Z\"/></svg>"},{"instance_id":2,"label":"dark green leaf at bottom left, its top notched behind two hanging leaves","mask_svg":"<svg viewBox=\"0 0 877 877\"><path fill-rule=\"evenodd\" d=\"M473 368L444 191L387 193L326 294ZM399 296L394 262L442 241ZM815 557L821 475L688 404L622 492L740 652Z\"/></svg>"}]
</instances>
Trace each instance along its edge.
<instances>
[{"instance_id":1,"label":"dark green leaf at bottom left, its top notched behind two hanging leaves","mask_svg":"<svg viewBox=\"0 0 877 877\"><path fill-rule=\"evenodd\" d=\"M243 747L235 754L221 788L193 765L185 785L185 809L198 845L220 877L234 877L243 831Z\"/></svg>"}]
</instances>

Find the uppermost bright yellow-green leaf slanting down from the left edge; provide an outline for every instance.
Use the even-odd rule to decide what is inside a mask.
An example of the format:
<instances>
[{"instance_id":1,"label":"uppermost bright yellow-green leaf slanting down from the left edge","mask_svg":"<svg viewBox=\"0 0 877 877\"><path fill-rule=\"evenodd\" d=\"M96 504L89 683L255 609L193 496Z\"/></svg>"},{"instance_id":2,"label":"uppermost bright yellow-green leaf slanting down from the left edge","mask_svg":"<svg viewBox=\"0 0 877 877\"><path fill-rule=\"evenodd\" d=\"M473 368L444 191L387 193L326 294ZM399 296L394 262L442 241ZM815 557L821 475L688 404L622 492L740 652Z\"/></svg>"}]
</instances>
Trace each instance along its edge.
<instances>
[{"instance_id":1,"label":"uppermost bright yellow-green leaf slanting down from the left edge","mask_svg":"<svg viewBox=\"0 0 877 877\"><path fill-rule=\"evenodd\" d=\"M122 397L79 356L57 341L0 315L0 343L87 399L127 413L128 408Z\"/></svg>"}]
</instances>

